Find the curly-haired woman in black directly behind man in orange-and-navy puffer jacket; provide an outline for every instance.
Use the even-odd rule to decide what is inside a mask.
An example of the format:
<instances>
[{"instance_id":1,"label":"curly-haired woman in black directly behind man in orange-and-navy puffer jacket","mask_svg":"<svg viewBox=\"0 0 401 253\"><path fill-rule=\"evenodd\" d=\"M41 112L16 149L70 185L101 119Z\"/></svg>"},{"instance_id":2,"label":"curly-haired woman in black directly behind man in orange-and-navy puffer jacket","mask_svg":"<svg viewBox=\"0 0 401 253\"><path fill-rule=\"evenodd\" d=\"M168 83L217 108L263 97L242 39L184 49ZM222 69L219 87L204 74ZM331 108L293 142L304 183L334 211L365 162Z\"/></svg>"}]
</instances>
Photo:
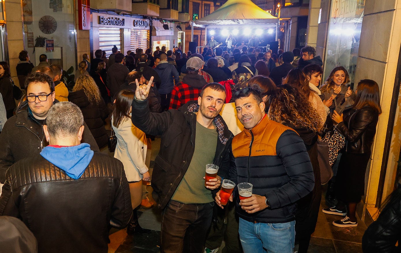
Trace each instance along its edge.
<instances>
[{"instance_id":1,"label":"curly-haired woman in black directly behind man in orange-and-navy puffer jacket","mask_svg":"<svg viewBox=\"0 0 401 253\"><path fill-rule=\"evenodd\" d=\"M294 129L305 143L313 167L315 186L307 196L300 199L295 216L296 244L298 252L308 251L310 236L315 231L322 198L320 167L318 162L317 133L322 130L323 122L318 112L296 88L284 84L270 95L270 107L267 116Z\"/></svg>"}]
</instances>

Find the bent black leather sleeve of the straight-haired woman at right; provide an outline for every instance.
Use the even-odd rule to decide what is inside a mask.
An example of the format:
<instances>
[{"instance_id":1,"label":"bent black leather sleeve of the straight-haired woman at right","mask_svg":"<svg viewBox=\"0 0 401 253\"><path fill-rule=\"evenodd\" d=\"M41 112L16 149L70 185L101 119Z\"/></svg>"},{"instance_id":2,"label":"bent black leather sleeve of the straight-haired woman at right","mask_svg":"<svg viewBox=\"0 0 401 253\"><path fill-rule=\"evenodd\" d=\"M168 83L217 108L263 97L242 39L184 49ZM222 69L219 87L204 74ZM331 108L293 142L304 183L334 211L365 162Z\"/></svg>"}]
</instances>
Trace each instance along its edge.
<instances>
[{"instance_id":1,"label":"bent black leather sleeve of the straight-haired woman at right","mask_svg":"<svg viewBox=\"0 0 401 253\"><path fill-rule=\"evenodd\" d=\"M358 141L358 139L362 136L363 132L367 129L369 124L371 124L373 120L375 120L375 116L369 110L360 109L355 112L355 116L353 117L353 119L351 118L351 120L351 128L348 128L344 121L340 122L336 127L347 141L354 143Z\"/></svg>"}]
</instances>

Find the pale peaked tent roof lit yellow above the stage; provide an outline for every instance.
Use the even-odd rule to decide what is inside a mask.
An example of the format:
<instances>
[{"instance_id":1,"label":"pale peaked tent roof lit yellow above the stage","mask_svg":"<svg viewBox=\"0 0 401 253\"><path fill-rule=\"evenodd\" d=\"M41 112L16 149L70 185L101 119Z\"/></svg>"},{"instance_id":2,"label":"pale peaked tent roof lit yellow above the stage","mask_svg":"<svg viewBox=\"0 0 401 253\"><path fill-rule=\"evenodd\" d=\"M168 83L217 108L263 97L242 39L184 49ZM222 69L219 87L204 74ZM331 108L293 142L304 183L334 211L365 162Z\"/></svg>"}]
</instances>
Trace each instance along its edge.
<instances>
[{"instance_id":1,"label":"pale peaked tent roof lit yellow above the stage","mask_svg":"<svg viewBox=\"0 0 401 253\"><path fill-rule=\"evenodd\" d=\"M272 24L277 18L251 0L228 0L211 14L192 21L194 25Z\"/></svg>"}]
</instances>

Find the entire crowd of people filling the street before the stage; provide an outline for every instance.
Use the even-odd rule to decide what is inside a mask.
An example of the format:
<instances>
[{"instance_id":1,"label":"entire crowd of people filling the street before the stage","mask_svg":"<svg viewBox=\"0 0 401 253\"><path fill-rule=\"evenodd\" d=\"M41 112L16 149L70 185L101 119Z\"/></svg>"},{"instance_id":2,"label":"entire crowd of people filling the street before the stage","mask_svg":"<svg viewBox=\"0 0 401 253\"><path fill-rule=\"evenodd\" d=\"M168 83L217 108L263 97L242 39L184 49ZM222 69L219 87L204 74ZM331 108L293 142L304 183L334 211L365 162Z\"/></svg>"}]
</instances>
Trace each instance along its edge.
<instances>
[{"instance_id":1,"label":"entire crowd of people filling the street before the stage","mask_svg":"<svg viewBox=\"0 0 401 253\"><path fill-rule=\"evenodd\" d=\"M263 53L252 39L255 48L203 54L156 47L124 55L114 46L106 58L99 49L82 55L69 84L46 55L34 67L21 51L18 106L0 62L0 215L22 220L39 252L107 252L111 227L149 233L136 210L156 204L162 253L215 253L223 240L223 252L305 253L329 169L326 198L338 202L322 212L343 216L334 226L357 226L378 84L360 80L354 92L341 66L323 81L313 47ZM99 152L112 139L108 124L114 158ZM330 147L323 157L319 142ZM206 178L211 164L217 174ZM227 182L236 186L228 195ZM251 195L241 195L244 185Z\"/></svg>"}]
</instances>

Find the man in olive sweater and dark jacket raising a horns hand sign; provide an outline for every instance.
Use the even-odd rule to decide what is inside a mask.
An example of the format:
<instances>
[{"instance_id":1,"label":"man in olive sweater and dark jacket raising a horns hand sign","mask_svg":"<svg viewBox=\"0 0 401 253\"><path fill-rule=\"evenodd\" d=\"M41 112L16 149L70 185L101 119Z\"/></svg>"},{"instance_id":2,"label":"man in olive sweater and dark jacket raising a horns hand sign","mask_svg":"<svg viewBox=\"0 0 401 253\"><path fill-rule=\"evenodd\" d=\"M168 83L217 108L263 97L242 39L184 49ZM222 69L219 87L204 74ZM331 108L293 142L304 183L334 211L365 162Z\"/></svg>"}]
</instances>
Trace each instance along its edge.
<instances>
[{"instance_id":1,"label":"man in olive sweater and dark jacket raising a horns hand sign","mask_svg":"<svg viewBox=\"0 0 401 253\"><path fill-rule=\"evenodd\" d=\"M152 81L152 80L151 80ZM150 84L139 87L132 122L150 135L161 135L152 177L153 198L162 212L161 252L202 253L212 222L212 190L227 177L232 133L219 115L225 100L220 84L208 84L198 101L179 110L150 113ZM205 165L220 167L205 187Z\"/></svg>"}]
</instances>

